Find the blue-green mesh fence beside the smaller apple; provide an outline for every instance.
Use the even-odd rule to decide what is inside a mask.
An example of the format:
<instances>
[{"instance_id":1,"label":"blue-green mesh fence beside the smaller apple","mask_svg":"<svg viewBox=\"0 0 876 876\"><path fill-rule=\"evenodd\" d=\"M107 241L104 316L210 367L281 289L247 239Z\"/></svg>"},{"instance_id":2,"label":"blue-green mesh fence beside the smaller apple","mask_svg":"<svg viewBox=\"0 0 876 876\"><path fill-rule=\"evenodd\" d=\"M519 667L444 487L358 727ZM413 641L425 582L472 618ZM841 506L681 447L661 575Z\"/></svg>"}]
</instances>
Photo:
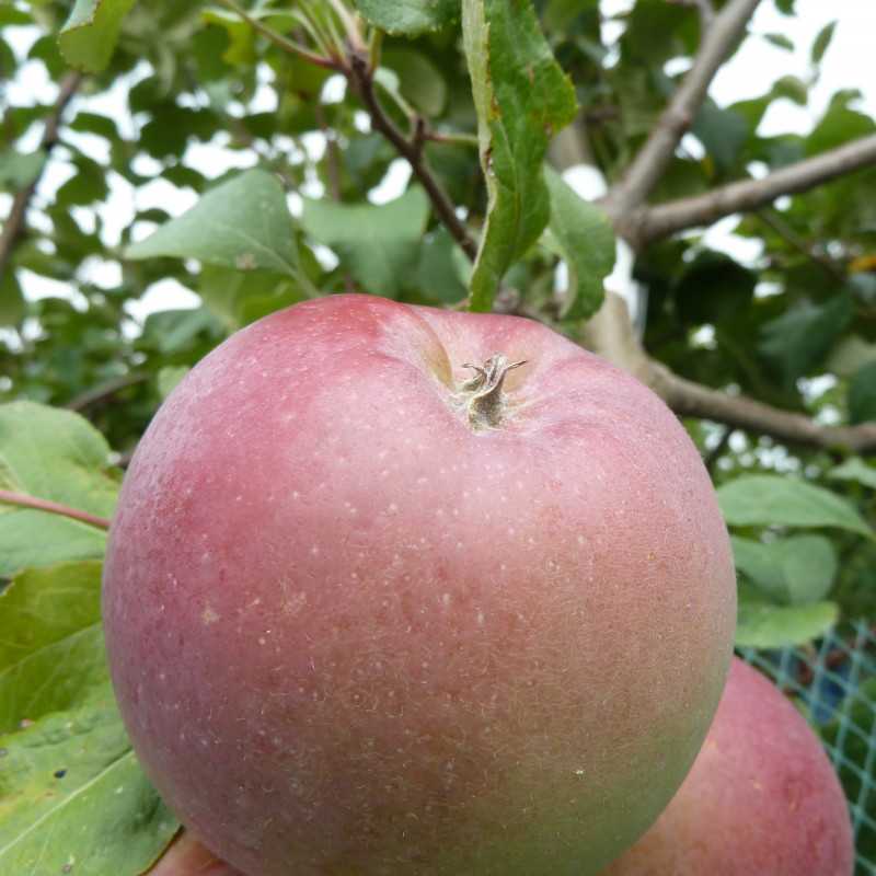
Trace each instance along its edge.
<instances>
[{"instance_id":1,"label":"blue-green mesh fence beside the smaller apple","mask_svg":"<svg viewBox=\"0 0 876 876\"><path fill-rule=\"evenodd\" d=\"M740 656L794 698L821 736L849 799L855 876L876 876L876 625L858 621L818 646Z\"/></svg>"}]
</instances>

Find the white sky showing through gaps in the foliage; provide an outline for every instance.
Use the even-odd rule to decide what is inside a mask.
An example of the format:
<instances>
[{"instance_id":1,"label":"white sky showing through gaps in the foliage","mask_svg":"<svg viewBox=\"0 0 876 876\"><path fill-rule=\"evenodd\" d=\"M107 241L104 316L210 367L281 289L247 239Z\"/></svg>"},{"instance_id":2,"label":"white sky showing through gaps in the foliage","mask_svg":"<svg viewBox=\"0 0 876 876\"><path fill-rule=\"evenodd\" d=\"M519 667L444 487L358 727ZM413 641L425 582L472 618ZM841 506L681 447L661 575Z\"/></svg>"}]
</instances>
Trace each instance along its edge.
<instances>
[{"instance_id":1,"label":"white sky showing through gaps in the foliage","mask_svg":"<svg viewBox=\"0 0 876 876\"><path fill-rule=\"evenodd\" d=\"M655 2L657 0L654 0ZM604 12L613 13L631 5L631 0L601 0ZM838 21L833 41L821 65L821 78L810 93L809 105L797 106L787 100L775 101L764 117L760 132L777 134L795 131L806 134L811 129L819 116L823 113L828 101L839 89L860 89L863 99L858 104L862 112L876 116L876 64L874 64L873 34L876 33L876 3L872 0L797 0L797 15L787 18L780 14L772 0L762 0L761 5L751 24L754 34L781 33L795 44L795 50L780 49L766 39L752 37L744 45L737 56L727 64L716 77L711 95L724 105L737 100L754 97L770 88L773 81L782 76L793 74L806 80L809 77L809 48L812 39L825 24L832 20ZM611 33L611 25L608 25ZM616 33L616 31L615 31ZM9 28L13 49L19 57L23 56L33 43L36 34L33 28ZM135 73L138 78L148 74L148 69ZM34 102L48 103L54 100L54 85L45 76L42 65L32 62L24 65L13 82L4 84L5 94L11 104L21 105ZM97 97L77 99L76 105L80 108L88 105L93 112L111 115L119 124L123 134L131 136L131 123L126 118L123 90L114 89L107 94ZM339 96L339 95L337 95ZM270 110L274 106L273 90L265 87L258 96L261 110ZM69 112L69 111L68 111ZM102 139L88 135L66 135L92 158L103 161L105 143ZM33 132L34 142L22 143L21 148L28 149L35 146L38 131ZM322 145L319 136L306 143L311 153L319 153ZM693 143L692 148L696 148ZM141 159L137 170L140 172L155 172L159 165L148 159ZM186 154L186 163L200 169L209 169L209 174L217 176L230 166L250 166L251 155L231 152L222 148L221 139L212 145L194 143ZM41 181L38 201L46 203L53 193L70 175L69 165L54 161L49 171ZM380 191L372 193L377 201L393 197L404 186L410 176L410 170L401 160L393 162L388 177L380 186ZM569 182L585 196L593 197L600 194L599 182L592 174L575 173L568 175ZM171 215L178 215L187 209L195 200L195 195L189 191L180 191L164 181L155 181L139 191L135 191L116 174L111 176L111 197L101 205L100 212L106 227L107 242L113 245L118 242L122 230L127 227L137 210L152 206L160 206ZM319 195L319 186L314 184L307 194ZM4 216L9 209L11 198L0 194L0 215ZM300 200L295 196L290 199L293 211L300 208ZM32 217L35 214L32 212ZM90 208L78 208L74 216L83 227L91 228L94 222L94 211ZM32 219L33 221L33 219ZM750 241L735 238L729 230L735 222L733 217L718 222L710 229L707 243L716 249L729 252L735 257L753 262L759 256L758 245ZM146 229L143 229L146 231ZM141 237L142 234L138 235ZM629 257L619 260L619 269L609 286L616 291L627 291ZM117 265L114 263L92 262L85 266L89 279L99 285L112 286L120 279ZM25 295L30 299L37 299L48 295L69 296L69 288L36 275L25 273L23 276ZM197 307L199 299L175 281L164 281L153 286L138 302L131 302L131 315L141 321L148 312L165 308Z\"/></svg>"}]
</instances>

